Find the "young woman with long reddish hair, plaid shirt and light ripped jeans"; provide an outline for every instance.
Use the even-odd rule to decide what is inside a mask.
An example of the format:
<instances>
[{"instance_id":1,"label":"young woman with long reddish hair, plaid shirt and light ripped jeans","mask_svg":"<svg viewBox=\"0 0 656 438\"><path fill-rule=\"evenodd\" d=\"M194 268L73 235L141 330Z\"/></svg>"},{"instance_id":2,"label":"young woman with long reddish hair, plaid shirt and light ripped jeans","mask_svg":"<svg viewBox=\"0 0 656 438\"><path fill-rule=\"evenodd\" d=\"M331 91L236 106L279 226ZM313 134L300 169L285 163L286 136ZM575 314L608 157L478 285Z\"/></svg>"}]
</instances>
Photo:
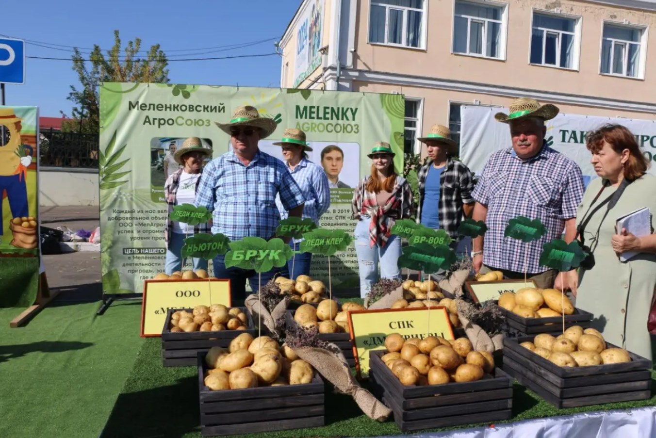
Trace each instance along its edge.
<instances>
[{"instance_id":1,"label":"young woman with long reddish hair, plaid shirt and light ripped jeans","mask_svg":"<svg viewBox=\"0 0 656 438\"><path fill-rule=\"evenodd\" d=\"M379 278L379 264L380 277L401 278L401 239L390 235L390 230L397 220L412 216L413 197L408 182L394 169L394 155L388 143L376 143L368 155L373 161L371 174L353 193L351 209L353 218L359 220L355 236L363 298Z\"/></svg>"}]
</instances>

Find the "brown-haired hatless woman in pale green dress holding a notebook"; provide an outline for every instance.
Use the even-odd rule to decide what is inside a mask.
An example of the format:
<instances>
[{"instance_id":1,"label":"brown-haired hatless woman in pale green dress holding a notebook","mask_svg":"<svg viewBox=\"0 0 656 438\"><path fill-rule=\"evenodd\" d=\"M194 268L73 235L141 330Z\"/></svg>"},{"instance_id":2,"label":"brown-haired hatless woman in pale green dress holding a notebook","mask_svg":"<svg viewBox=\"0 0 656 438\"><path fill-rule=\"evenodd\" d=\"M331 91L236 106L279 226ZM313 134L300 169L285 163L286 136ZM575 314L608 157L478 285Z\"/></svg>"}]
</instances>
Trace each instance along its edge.
<instances>
[{"instance_id":1,"label":"brown-haired hatless woman in pale green dress holding a notebook","mask_svg":"<svg viewBox=\"0 0 656 438\"><path fill-rule=\"evenodd\" d=\"M569 271L567 283L577 308L594 315L592 327L605 340L651 359L647 319L656 287L655 221L649 216L649 234L640 237L616 223L639 209L656 213L656 177L646 173L647 159L621 125L588 133L587 148L600 178L590 182L579 205L577 231L591 255L578 272ZM629 251L638 254L621 261Z\"/></svg>"}]
</instances>

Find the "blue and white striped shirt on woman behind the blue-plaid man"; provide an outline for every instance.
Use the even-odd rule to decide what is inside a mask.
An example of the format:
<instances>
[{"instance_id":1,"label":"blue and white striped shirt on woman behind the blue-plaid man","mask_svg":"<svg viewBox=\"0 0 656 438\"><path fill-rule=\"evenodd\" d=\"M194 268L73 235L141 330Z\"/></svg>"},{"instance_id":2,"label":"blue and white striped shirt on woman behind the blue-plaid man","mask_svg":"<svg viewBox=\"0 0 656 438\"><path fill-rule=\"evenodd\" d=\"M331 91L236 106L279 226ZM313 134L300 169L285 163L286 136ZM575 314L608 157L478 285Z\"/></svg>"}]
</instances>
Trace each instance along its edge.
<instances>
[{"instance_id":1,"label":"blue and white striped shirt on woman behind the blue-plaid man","mask_svg":"<svg viewBox=\"0 0 656 438\"><path fill-rule=\"evenodd\" d=\"M291 176L294 177L305 197L303 218L310 218L312 222L320 226L319 218L330 207L328 177L321 167L305 158L300 160L294 170L289 169L289 165L287 165L287 169L291 172ZM280 202L279 196L276 198L276 206L280 212L280 218L286 219L288 212Z\"/></svg>"}]
</instances>

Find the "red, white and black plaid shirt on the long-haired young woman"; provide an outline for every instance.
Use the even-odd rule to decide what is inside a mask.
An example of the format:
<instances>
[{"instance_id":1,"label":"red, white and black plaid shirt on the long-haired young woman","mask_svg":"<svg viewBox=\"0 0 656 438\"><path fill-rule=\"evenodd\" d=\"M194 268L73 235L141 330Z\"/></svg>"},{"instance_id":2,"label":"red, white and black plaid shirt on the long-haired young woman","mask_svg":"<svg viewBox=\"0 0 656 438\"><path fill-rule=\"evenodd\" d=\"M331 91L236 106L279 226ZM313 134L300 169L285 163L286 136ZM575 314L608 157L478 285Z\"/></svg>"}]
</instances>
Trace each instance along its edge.
<instances>
[{"instance_id":1,"label":"red, white and black plaid shirt on the long-haired young woman","mask_svg":"<svg viewBox=\"0 0 656 438\"><path fill-rule=\"evenodd\" d=\"M367 181L371 176L364 178L353 193L351 210L353 218L361 216L371 218L369 227L369 246L378 244L384 247L390 237L390 229L398 219L409 218L413 213L413 197L410 184L402 176L396 176L396 184L392 189L392 195L385 205L380 207L376 199L376 193L367 191Z\"/></svg>"}]
</instances>

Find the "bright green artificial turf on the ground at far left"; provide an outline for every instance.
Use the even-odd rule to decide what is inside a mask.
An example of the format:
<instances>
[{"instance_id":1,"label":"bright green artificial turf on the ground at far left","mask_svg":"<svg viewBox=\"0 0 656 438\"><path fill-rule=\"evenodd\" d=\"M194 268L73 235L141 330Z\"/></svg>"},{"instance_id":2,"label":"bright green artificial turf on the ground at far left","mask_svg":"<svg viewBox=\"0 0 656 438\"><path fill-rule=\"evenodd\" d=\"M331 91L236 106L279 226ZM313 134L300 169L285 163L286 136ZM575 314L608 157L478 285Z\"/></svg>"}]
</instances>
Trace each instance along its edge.
<instances>
[{"instance_id":1,"label":"bright green artificial turf on the ground at far left","mask_svg":"<svg viewBox=\"0 0 656 438\"><path fill-rule=\"evenodd\" d=\"M141 303L97 309L54 303L16 329L23 309L0 309L0 437L100 435L142 344Z\"/></svg>"}]
</instances>

